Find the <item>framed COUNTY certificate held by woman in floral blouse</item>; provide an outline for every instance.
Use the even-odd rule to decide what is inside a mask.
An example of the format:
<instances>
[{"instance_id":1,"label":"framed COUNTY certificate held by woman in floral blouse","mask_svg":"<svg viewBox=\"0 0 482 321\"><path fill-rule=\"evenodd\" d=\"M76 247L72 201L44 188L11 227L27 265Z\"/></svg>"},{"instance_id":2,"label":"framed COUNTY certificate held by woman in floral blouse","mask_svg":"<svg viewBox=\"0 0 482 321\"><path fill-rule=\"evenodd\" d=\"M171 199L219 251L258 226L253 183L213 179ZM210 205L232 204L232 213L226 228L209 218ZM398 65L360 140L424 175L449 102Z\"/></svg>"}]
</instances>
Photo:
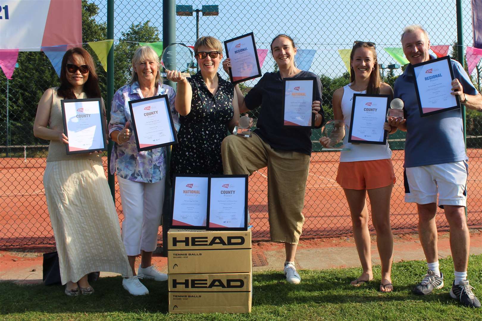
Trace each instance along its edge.
<instances>
[{"instance_id":1,"label":"framed COUNTY certificate held by woman in floral blouse","mask_svg":"<svg viewBox=\"0 0 482 321\"><path fill-rule=\"evenodd\" d=\"M137 151L177 144L167 95L130 101L129 110Z\"/></svg>"}]
</instances>

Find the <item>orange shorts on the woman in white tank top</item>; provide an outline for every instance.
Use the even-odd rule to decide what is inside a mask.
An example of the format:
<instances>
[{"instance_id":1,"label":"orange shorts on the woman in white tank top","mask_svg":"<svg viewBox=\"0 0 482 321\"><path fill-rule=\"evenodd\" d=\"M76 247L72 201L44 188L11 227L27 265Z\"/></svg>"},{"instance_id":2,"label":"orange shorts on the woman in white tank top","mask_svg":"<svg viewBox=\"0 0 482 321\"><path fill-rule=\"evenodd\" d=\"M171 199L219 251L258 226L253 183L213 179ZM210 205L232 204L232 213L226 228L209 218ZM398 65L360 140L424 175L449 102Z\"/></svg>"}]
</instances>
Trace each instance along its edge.
<instances>
[{"instance_id":1,"label":"orange shorts on the woman in white tank top","mask_svg":"<svg viewBox=\"0 0 482 321\"><path fill-rule=\"evenodd\" d=\"M395 183L391 159L340 162L336 182L350 190L372 190Z\"/></svg>"}]
</instances>

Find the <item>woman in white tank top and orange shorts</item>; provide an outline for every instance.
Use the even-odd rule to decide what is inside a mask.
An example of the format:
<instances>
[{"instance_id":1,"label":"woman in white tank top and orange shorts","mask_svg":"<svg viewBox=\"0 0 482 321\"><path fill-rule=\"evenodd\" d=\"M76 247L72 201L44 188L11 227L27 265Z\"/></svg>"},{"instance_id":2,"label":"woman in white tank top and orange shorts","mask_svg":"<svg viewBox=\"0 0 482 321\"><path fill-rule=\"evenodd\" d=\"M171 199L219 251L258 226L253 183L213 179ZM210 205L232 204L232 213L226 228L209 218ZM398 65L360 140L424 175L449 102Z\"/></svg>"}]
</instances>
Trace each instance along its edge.
<instances>
[{"instance_id":1,"label":"woman in white tank top and orange shorts","mask_svg":"<svg viewBox=\"0 0 482 321\"><path fill-rule=\"evenodd\" d=\"M350 54L351 83L335 90L333 94L333 112L335 119L343 119L345 132L351 118L354 93L389 94L391 87L380 81L380 72L376 60L375 44L355 41ZM395 132L385 123L389 133ZM330 139L320 139L323 147L328 147ZM391 264L393 258L393 236L390 226L390 196L393 188L394 173L391 164L391 151L388 142L385 145L351 144L348 135L344 143L349 151L342 151L336 181L343 187L347 196L353 226L353 235L362 263L362 275L352 281L353 286L360 286L373 279L370 255L370 234L368 231L368 209L365 204L366 193L370 198L372 220L376 231L378 253L382 263L380 291L391 292Z\"/></svg>"}]
</instances>

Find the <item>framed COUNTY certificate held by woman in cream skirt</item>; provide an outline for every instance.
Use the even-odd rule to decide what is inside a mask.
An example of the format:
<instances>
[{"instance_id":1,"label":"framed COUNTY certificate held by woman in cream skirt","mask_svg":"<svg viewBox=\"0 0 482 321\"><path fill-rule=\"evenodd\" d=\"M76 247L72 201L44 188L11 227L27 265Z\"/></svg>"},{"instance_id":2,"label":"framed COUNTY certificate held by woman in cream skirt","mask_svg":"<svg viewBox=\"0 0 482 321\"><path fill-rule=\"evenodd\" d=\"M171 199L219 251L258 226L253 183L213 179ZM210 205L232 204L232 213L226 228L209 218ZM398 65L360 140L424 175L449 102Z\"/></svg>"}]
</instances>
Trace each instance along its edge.
<instances>
[{"instance_id":1,"label":"framed COUNTY certificate held by woman in cream skirt","mask_svg":"<svg viewBox=\"0 0 482 321\"><path fill-rule=\"evenodd\" d=\"M100 98L63 99L61 105L67 154L107 150Z\"/></svg>"}]
</instances>

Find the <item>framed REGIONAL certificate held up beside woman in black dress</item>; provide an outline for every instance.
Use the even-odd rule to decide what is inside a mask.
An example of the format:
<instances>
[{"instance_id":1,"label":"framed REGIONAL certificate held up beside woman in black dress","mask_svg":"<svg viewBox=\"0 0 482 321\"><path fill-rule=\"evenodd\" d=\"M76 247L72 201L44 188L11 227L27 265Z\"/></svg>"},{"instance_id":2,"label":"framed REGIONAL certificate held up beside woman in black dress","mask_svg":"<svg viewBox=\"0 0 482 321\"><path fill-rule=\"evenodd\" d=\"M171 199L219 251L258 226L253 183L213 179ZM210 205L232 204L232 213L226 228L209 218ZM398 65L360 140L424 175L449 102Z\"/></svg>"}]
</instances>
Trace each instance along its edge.
<instances>
[{"instance_id":1,"label":"framed REGIONAL certificate held up beside woman in black dress","mask_svg":"<svg viewBox=\"0 0 482 321\"><path fill-rule=\"evenodd\" d=\"M261 68L259 67L258 54L252 32L226 40L224 47L226 48L226 55L231 59L229 77L233 84L261 77Z\"/></svg>"}]
</instances>

